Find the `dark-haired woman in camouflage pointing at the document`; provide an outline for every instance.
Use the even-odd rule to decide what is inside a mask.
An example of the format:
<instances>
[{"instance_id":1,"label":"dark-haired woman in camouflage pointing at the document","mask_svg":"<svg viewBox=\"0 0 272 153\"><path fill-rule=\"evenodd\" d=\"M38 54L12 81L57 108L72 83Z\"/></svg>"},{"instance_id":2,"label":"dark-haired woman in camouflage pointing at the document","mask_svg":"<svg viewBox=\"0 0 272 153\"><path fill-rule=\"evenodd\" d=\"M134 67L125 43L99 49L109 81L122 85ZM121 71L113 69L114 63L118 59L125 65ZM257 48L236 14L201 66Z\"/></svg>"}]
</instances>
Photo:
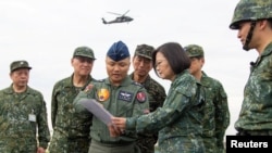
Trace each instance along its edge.
<instances>
[{"instance_id":1,"label":"dark-haired woman in camouflage pointing at the document","mask_svg":"<svg viewBox=\"0 0 272 153\"><path fill-rule=\"evenodd\" d=\"M161 153L203 153L201 138L202 104L201 89L196 78L188 72L190 60L180 43L168 42L152 53L156 74L171 81L171 87L162 107L147 115L136 117L113 117L113 124L123 130L141 132L159 131Z\"/></svg>"}]
</instances>

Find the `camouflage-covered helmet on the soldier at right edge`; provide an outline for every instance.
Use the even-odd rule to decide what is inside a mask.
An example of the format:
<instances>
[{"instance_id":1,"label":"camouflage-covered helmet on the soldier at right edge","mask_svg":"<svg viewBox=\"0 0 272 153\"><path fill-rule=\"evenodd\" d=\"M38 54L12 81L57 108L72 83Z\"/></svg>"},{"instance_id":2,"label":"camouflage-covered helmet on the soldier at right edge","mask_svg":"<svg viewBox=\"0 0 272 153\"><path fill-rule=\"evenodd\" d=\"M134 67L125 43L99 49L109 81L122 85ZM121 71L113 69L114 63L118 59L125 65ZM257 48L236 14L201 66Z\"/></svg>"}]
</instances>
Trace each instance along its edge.
<instances>
[{"instance_id":1,"label":"camouflage-covered helmet on the soldier at right edge","mask_svg":"<svg viewBox=\"0 0 272 153\"><path fill-rule=\"evenodd\" d=\"M240 22L272 18L272 0L240 0L234 10L231 29L238 29Z\"/></svg>"}]
</instances>

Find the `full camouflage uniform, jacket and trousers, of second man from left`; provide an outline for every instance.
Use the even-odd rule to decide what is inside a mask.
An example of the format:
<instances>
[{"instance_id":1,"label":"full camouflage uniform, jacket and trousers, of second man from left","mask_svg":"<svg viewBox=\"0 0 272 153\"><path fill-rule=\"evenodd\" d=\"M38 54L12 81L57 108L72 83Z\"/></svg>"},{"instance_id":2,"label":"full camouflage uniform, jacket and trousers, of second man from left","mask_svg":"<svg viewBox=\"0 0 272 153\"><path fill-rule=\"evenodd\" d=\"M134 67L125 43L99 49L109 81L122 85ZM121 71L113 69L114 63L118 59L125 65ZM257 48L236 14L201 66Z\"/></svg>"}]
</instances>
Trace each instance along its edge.
<instances>
[{"instance_id":1,"label":"full camouflage uniform, jacket and trousers, of second man from left","mask_svg":"<svg viewBox=\"0 0 272 153\"><path fill-rule=\"evenodd\" d=\"M89 76L86 86L73 86L73 75L58 81L53 87L51 103L51 120L53 136L50 141L50 153L86 153L88 152L91 126L90 114L77 114L73 100L78 92L92 81Z\"/></svg>"}]
</instances>

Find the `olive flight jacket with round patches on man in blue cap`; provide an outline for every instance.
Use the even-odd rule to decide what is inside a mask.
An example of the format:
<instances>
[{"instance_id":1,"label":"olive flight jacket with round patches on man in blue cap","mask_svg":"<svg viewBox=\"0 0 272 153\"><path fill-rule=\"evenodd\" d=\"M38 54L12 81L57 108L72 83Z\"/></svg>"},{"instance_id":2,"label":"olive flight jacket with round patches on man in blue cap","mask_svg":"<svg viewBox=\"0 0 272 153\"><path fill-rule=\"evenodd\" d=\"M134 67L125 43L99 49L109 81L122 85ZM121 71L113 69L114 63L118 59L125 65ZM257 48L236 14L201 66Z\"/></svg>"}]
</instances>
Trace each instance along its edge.
<instances>
[{"instance_id":1,"label":"olive flight jacket with round patches on man in blue cap","mask_svg":"<svg viewBox=\"0 0 272 153\"><path fill-rule=\"evenodd\" d=\"M109 78L94 82L90 90L82 91L75 99L76 112L88 113L78 102L82 98L96 99L113 116L131 117L145 114L149 110L149 102L146 89L133 81L128 76L119 87L110 84ZM134 131L126 131L121 137L112 138L108 126L94 116L90 129L91 140L108 144L122 144L134 142L136 135Z\"/></svg>"}]
</instances>

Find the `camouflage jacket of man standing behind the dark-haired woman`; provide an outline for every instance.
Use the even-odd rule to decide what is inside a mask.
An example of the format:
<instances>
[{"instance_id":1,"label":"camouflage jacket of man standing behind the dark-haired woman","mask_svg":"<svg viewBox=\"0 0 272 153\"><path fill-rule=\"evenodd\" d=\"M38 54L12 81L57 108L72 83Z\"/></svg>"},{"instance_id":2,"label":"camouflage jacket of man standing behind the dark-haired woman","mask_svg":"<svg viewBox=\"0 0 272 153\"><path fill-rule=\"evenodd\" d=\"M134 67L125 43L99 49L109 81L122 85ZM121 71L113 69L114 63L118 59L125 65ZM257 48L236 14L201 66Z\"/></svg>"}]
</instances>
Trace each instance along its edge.
<instances>
[{"instance_id":1,"label":"camouflage jacket of man standing behind the dark-haired woman","mask_svg":"<svg viewBox=\"0 0 272 153\"><path fill-rule=\"evenodd\" d=\"M222 84L207 76L205 72L202 72L200 82L205 89L203 139L214 137L213 144L219 149L224 149L224 135L230 125L227 95Z\"/></svg>"}]
</instances>

